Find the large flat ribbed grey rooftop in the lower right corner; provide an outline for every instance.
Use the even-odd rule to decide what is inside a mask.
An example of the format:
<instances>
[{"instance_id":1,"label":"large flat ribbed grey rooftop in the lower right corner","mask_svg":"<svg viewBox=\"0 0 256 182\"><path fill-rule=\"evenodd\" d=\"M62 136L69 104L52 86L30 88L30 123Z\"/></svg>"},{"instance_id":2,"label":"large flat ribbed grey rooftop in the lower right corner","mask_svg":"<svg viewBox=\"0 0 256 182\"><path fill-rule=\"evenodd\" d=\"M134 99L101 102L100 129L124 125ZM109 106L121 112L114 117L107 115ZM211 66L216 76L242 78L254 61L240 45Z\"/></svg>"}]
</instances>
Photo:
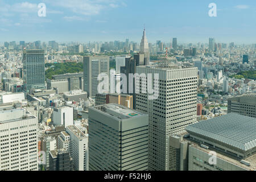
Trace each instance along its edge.
<instances>
[{"instance_id":1,"label":"large flat ribbed grey rooftop in the lower right corner","mask_svg":"<svg viewBox=\"0 0 256 182\"><path fill-rule=\"evenodd\" d=\"M256 147L256 118L245 115L229 113L189 125L185 130L243 151Z\"/></svg>"}]
</instances>

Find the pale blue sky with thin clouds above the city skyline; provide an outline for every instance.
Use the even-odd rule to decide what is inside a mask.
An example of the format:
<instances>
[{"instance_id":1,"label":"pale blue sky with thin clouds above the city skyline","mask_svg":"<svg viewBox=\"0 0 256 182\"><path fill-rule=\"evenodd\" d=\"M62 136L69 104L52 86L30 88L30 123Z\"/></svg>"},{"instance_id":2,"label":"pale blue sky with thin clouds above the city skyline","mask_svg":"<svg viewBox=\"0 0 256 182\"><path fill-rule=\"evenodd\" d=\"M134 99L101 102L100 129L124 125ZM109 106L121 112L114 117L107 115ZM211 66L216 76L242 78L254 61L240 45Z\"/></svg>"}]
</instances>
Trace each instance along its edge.
<instances>
[{"instance_id":1,"label":"pale blue sky with thin clouds above the city skyline","mask_svg":"<svg viewBox=\"0 0 256 182\"><path fill-rule=\"evenodd\" d=\"M46 17L38 16L39 3ZM210 3L217 16L210 17ZM0 0L0 42L256 43L255 0Z\"/></svg>"}]
</instances>

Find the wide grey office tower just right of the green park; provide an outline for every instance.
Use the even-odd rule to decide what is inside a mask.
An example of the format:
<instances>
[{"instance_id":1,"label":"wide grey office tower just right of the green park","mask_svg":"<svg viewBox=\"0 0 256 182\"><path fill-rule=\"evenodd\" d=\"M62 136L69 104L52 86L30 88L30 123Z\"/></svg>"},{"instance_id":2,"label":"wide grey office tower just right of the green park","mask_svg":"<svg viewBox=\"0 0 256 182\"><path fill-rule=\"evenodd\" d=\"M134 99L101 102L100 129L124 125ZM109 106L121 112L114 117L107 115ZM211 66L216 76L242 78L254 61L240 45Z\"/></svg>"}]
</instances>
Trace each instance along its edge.
<instances>
[{"instance_id":1,"label":"wide grey office tower just right of the green park","mask_svg":"<svg viewBox=\"0 0 256 182\"><path fill-rule=\"evenodd\" d=\"M98 92L98 76L105 73L109 77L109 56L84 57L84 91L88 97L95 97Z\"/></svg>"}]
</instances>

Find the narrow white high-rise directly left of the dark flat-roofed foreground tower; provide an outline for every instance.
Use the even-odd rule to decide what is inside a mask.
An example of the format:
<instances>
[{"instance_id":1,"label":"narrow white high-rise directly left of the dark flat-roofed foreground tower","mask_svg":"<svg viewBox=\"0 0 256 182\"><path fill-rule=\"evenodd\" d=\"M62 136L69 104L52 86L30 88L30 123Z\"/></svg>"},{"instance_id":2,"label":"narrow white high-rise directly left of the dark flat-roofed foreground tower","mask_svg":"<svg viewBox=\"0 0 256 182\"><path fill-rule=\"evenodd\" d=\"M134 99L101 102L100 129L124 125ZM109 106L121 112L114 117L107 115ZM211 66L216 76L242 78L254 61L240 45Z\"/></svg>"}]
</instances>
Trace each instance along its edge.
<instances>
[{"instance_id":1,"label":"narrow white high-rise directly left of the dark flat-roofed foreground tower","mask_svg":"<svg viewBox=\"0 0 256 182\"><path fill-rule=\"evenodd\" d=\"M73 168L77 171L88 171L88 134L82 133L75 125L68 126L66 131L70 136L69 153L73 159Z\"/></svg>"}]
</instances>

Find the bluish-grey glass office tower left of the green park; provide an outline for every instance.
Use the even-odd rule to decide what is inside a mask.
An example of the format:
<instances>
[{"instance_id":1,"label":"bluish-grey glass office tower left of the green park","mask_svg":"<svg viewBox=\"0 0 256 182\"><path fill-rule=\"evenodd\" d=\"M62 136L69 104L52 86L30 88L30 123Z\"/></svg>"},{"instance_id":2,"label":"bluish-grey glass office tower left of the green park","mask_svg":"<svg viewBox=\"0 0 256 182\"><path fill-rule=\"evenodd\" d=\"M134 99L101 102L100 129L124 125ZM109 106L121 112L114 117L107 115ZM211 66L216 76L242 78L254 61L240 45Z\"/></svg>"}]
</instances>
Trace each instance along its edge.
<instances>
[{"instance_id":1,"label":"bluish-grey glass office tower left of the green park","mask_svg":"<svg viewBox=\"0 0 256 182\"><path fill-rule=\"evenodd\" d=\"M24 92L30 89L45 89L44 50L23 51Z\"/></svg>"}]
</instances>

